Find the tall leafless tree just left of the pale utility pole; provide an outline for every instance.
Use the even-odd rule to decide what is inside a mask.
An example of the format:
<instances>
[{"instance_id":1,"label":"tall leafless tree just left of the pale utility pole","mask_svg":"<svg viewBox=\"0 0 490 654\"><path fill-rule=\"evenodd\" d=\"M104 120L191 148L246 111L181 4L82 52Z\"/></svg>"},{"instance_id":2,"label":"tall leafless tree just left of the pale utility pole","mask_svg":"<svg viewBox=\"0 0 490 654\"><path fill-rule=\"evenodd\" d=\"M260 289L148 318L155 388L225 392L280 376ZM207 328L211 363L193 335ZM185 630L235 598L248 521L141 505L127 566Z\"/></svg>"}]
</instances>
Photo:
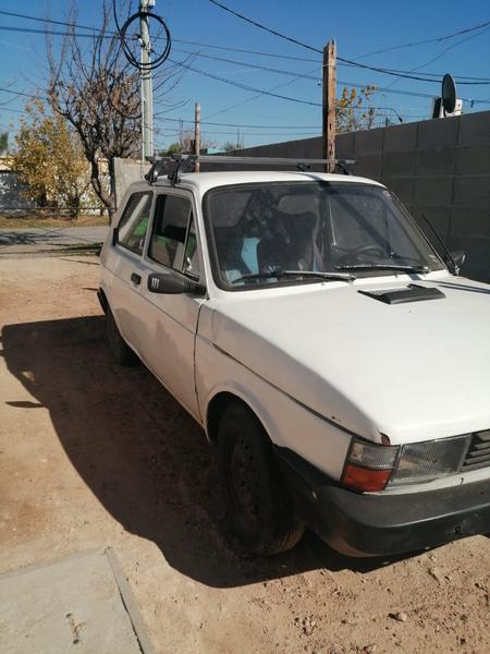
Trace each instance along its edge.
<instances>
[{"instance_id":1,"label":"tall leafless tree just left of the pale utility pole","mask_svg":"<svg viewBox=\"0 0 490 654\"><path fill-rule=\"evenodd\" d=\"M71 23L76 23L75 12ZM114 158L139 150L138 72L130 70L121 43L109 35L110 8L103 2L102 26L88 49L82 49L74 28L54 56L48 41L48 97L52 109L79 136L97 197L111 214L115 208ZM101 166L107 160L109 183Z\"/></svg>"}]
</instances>

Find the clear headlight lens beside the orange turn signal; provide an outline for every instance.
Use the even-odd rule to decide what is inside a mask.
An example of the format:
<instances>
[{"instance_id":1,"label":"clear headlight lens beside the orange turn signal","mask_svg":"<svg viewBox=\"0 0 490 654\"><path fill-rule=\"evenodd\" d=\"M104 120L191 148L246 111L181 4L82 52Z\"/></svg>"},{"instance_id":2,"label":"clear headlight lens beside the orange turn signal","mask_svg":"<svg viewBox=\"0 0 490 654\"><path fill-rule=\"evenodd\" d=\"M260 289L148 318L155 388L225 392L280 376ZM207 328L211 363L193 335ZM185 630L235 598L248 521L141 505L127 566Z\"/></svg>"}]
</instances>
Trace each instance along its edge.
<instances>
[{"instance_id":1,"label":"clear headlight lens beside the orange turn signal","mask_svg":"<svg viewBox=\"0 0 490 654\"><path fill-rule=\"evenodd\" d=\"M461 470L471 436L456 436L402 446L391 485L428 482Z\"/></svg>"}]
</instances>

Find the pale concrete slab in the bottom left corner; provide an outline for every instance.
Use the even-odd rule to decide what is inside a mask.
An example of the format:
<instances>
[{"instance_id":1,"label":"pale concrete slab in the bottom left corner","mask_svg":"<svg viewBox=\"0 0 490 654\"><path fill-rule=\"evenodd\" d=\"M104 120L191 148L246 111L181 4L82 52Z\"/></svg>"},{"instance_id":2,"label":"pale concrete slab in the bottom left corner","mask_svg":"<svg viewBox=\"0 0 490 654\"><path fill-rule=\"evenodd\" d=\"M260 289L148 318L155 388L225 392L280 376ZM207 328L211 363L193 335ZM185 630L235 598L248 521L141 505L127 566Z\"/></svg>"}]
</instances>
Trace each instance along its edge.
<instances>
[{"instance_id":1,"label":"pale concrete slab in the bottom left corner","mask_svg":"<svg viewBox=\"0 0 490 654\"><path fill-rule=\"evenodd\" d=\"M111 552L0 576L2 654L150 654Z\"/></svg>"}]
</instances>

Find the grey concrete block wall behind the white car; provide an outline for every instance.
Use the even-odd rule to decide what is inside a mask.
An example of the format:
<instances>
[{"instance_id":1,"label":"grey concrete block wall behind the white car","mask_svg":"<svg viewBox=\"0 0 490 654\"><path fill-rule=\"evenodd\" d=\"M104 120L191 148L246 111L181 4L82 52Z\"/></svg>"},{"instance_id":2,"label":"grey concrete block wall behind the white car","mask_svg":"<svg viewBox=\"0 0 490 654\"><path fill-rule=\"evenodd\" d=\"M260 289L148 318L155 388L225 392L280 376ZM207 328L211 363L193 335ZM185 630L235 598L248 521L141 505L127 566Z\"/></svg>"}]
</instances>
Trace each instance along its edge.
<instances>
[{"instance_id":1,"label":"grey concrete block wall behind the white car","mask_svg":"<svg viewBox=\"0 0 490 654\"><path fill-rule=\"evenodd\" d=\"M321 137L236 154L321 158ZM465 250L465 275L490 281L490 111L341 134L336 156L387 184L429 239L422 214L452 250Z\"/></svg>"}]
</instances>

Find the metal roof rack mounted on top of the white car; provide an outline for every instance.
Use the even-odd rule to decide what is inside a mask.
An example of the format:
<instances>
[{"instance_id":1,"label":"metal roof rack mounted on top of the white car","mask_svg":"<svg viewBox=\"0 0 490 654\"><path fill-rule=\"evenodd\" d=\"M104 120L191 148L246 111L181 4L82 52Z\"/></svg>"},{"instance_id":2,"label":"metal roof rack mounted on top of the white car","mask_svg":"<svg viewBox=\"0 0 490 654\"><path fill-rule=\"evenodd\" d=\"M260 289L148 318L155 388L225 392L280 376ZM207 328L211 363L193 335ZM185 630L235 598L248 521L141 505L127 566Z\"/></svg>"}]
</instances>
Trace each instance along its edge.
<instances>
[{"instance_id":1,"label":"metal roof rack mounted on top of the white car","mask_svg":"<svg viewBox=\"0 0 490 654\"><path fill-rule=\"evenodd\" d=\"M294 157L235 157L225 155L172 155L159 159L149 159L151 168L145 174L148 183L155 184L160 175L167 175L173 185L181 181L183 172L194 172L196 162L201 164L234 164L250 166L295 166L297 170L310 170L311 166L333 164L343 174L352 174L347 166L354 165L354 159L303 159Z\"/></svg>"}]
</instances>

